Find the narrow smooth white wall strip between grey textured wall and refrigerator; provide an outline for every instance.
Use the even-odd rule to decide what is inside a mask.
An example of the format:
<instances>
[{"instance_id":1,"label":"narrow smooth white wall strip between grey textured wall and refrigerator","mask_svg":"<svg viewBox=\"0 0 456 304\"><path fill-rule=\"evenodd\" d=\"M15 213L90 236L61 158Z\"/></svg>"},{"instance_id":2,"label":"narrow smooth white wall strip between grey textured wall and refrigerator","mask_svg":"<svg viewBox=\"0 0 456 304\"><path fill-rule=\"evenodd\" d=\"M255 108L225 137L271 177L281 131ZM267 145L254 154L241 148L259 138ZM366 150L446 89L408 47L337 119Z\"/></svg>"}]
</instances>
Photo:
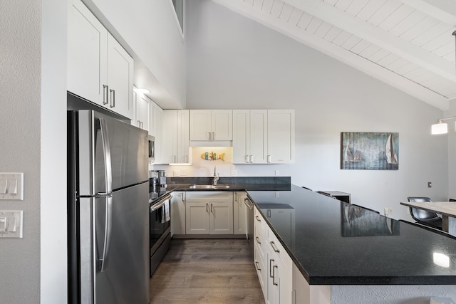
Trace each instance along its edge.
<instances>
[{"instance_id":1,"label":"narrow smooth white wall strip between grey textured wall and refrigerator","mask_svg":"<svg viewBox=\"0 0 456 304\"><path fill-rule=\"evenodd\" d=\"M40 302L49 304L67 300L67 11L67 1L41 0L41 108L34 114L41 115L41 172L36 179L41 184L41 196L33 202L39 201L41 210L40 214L29 214L27 219L36 216L41 221ZM23 129L24 133L29 131L28 127ZM21 288L17 292L21 293Z\"/></svg>"}]
</instances>

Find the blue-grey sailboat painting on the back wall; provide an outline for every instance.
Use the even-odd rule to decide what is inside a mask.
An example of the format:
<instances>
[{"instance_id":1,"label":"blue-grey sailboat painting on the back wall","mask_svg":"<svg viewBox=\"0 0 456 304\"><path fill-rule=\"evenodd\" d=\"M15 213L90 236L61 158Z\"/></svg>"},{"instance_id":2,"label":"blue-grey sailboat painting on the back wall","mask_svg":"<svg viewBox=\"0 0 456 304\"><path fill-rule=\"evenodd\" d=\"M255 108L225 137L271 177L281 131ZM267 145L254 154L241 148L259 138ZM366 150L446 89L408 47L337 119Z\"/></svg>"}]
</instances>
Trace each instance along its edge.
<instances>
[{"instance_id":1,"label":"blue-grey sailboat painting on the back wall","mask_svg":"<svg viewBox=\"0 0 456 304\"><path fill-rule=\"evenodd\" d=\"M399 133L342 132L341 169L398 170Z\"/></svg>"}]
</instances>

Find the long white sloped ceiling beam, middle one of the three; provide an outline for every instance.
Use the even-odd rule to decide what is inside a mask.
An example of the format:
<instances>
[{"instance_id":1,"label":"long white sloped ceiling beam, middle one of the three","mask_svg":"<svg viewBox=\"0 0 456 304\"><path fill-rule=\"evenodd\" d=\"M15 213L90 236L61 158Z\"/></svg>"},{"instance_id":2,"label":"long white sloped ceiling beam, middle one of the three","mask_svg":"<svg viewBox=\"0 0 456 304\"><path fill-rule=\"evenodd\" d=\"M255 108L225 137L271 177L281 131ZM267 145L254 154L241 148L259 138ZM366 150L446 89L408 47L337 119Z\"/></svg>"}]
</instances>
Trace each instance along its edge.
<instances>
[{"instance_id":1,"label":"long white sloped ceiling beam, middle one of the three","mask_svg":"<svg viewBox=\"0 0 456 304\"><path fill-rule=\"evenodd\" d=\"M455 67L450 61L435 56L392 33L383 31L323 1L284 0L284 2L456 83Z\"/></svg>"}]
</instances>

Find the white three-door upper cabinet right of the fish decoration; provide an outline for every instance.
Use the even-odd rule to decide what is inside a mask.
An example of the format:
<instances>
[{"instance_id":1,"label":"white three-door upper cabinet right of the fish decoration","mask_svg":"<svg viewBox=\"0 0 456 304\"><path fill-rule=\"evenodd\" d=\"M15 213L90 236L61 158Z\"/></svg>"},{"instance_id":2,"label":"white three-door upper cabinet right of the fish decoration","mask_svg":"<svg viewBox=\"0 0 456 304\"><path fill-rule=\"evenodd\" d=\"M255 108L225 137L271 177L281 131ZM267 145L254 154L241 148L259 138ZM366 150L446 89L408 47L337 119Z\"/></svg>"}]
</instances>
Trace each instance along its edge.
<instances>
[{"instance_id":1,"label":"white three-door upper cabinet right of the fish decoration","mask_svg":"<svg viewBox=\"0 0 456 304\"><path fill-rule=\"evenodd\" d=\"M294 110L233 110L233 163L294 162Z\"/></svg>"}]
</instances>

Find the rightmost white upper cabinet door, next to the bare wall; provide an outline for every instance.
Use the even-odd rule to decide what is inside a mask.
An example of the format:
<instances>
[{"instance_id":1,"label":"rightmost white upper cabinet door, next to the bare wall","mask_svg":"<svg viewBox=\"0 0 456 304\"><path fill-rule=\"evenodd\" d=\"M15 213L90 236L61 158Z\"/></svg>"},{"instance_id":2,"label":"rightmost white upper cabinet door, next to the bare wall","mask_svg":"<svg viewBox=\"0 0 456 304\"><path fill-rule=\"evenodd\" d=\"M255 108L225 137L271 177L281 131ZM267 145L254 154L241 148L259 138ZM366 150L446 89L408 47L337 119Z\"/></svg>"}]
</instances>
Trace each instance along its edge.
<instances>
[{"instance_id":1,"label":"rightmost white upper cabinet door, next to the bare wall","mask_svg":"<svg viewBox=\"0 0 456 304\"><path fill-rule=\"evenodd\" d=\"M294 110L268 110L268 162L294 162Z\"/></svg>"}]
</instances>

